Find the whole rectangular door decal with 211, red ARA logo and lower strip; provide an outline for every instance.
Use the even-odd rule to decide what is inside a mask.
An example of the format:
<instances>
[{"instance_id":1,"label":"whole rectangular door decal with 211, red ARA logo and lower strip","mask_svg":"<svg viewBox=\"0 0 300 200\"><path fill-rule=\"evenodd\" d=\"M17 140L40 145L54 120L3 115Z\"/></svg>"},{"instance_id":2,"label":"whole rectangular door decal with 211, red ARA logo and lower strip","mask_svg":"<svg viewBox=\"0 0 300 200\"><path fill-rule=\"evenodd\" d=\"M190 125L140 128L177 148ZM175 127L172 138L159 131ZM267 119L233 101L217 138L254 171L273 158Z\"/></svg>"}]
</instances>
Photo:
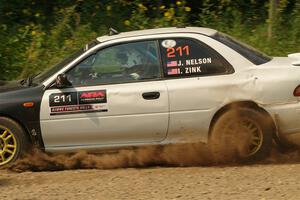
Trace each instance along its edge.
<instances>
[{"instance_id":1,"label":"whole rectangular door decal with 211, red ARA logo and lower strip","mask_svg":"<svg viewBox=\"0 0 300 200\"><path fill-rule=\"evenodd\" d=\"M108 111L106 90L51 94L49 105L50 115Z\"/></svg>"}]
</instances>

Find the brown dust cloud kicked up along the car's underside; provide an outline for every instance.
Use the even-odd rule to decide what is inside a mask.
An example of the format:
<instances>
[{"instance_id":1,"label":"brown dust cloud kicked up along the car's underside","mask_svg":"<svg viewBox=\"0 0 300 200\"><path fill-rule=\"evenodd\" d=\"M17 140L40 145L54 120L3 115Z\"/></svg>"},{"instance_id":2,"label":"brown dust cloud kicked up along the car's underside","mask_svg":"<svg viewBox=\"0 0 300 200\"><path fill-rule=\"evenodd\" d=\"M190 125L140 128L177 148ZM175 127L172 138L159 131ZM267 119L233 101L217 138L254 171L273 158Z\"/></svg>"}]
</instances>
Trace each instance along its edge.
<instances>
[{"instance_id":1,"label":"brown dust cloud kicked up along the car's underside","mask_svg":"<svg viewBox=\"0 0 300 200\"><path fill-rule=\"evenodd\" d=\"M145 168L155 166L191 167L241 165L237 159L238 151L232 151L232 148L224 149L221 153L214 151L213 148L206 144L191 143L148 146L102 154L91 154L84 151L72 154L49 154L34 150L23 159L8 166L7 169L15 172L35 172L71 169ZM278 150L273 149L267 159L255 163L284 164L297 162L300 162L300 154L298 151L280 153Z\"/></svg>"}]
</instances>

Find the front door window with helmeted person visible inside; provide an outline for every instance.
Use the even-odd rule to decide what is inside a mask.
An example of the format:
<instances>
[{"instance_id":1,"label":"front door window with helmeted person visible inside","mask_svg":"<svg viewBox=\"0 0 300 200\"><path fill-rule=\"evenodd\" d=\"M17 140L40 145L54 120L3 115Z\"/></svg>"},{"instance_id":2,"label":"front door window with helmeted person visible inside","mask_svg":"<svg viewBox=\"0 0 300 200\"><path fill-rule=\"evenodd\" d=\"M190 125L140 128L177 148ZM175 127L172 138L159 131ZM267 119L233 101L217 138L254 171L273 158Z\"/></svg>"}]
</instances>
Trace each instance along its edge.
<instances>
[{"instance_id":1,"label":"front door window with helmeted person visible inside","mask_svg":"<svg viewBox=\"0 0 300 200\"><path fill-rule=\"evenodd\" d=\"M120 44L98 51L66 74L73 86L136 82L161 77L155 41Z\"/></svg>"}]
</instances>

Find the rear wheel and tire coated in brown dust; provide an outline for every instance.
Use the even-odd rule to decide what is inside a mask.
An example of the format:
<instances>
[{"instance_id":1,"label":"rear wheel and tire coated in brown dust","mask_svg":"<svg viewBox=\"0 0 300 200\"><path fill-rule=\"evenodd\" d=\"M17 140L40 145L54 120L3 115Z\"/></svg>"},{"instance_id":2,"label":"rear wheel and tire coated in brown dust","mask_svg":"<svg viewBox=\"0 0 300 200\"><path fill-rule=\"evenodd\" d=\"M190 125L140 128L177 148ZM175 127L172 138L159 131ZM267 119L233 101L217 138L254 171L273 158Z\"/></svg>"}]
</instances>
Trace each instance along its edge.
<instances>
[{"instance_id":1,"label":"rear wheel and tire coated in brown dust","mask_svg":"<svg viewBox=\"0 0 300 200\"><path fill-rule=\"evenodd\" d=\"M258 161L271 152L272 131L272 124L264 113L237 107L216 120L210 143L220 159Z\"/></svg>"}]
</instances>

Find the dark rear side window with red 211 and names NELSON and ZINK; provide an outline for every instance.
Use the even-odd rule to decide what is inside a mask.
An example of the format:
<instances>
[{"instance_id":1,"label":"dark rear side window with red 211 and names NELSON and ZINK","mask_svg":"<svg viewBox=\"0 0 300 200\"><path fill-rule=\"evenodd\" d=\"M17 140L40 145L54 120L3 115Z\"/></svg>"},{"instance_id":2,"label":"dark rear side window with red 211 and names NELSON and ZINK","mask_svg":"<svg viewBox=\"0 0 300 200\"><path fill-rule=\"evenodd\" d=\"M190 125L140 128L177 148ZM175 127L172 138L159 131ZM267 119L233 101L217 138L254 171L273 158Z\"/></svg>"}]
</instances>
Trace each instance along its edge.
<instances>
[{"instance_id":1,"label":"dark rear side window with red 211 and names NELSON and ZINK","mask_svg":"<svg viewBox=\"0 0 300 200\"><path fill-rule=\"evenodd\" d=\"M215 50L189 39L160 40L164 74L167 77L232 73L232 66Z\"/></svg>"}]
</instances>

